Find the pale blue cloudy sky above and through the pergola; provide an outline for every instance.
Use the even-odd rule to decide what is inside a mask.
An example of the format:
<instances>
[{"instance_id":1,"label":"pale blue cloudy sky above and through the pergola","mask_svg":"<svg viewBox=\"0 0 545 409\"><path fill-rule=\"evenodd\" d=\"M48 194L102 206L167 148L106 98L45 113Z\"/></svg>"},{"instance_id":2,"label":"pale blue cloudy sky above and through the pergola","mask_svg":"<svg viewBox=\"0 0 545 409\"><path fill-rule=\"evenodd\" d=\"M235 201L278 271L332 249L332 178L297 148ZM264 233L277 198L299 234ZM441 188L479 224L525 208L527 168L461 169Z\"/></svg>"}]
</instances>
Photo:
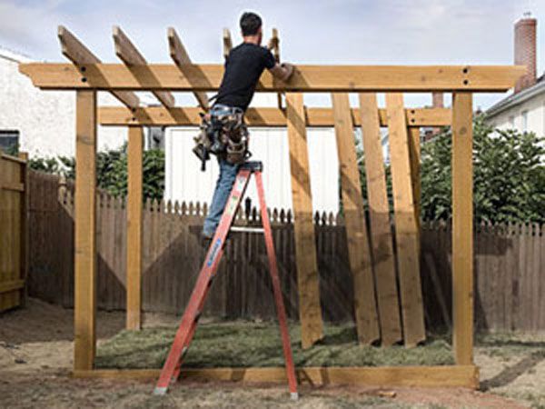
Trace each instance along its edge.
<instances>
[{"instance_id":1,"label":"pale blue cloudy sky above and through the pergola","mask_svg":"<svg viewBox=\"0 0 545 409\"><path fill-rule=\"evenodd\" d=\"M283 61L317 65L509 65L513 24L530 11L538 18L538 75L545 70L545 0L0 0L0 46L65 61L56 37L65 25L104 62L119 62L112 26L120 25L148 62L170 63L173 26L193 62L222 63L223 27L240 42L247 10L262 15L265 39L278 28ZM503 96L475 95L474 105L486 109ZM431 95L405 101L430 105ZM305 103L331 104L323 95L305 95Z\"/></svg>"}]
</instances>

